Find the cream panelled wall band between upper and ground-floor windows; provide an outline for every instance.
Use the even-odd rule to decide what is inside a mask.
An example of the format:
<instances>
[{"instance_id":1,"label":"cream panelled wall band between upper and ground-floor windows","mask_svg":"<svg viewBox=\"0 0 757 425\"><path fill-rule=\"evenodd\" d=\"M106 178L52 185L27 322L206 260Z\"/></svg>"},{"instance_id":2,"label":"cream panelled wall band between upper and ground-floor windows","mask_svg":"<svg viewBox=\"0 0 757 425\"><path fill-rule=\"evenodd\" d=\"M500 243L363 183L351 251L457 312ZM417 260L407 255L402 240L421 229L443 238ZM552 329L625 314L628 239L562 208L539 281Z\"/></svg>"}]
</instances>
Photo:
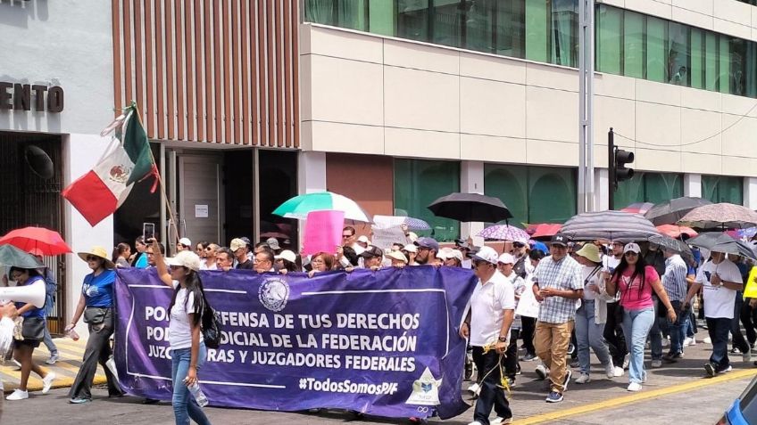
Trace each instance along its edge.
<instances>
[{"instance_id":1,"label":"cream panelled wall band between upper and ground-floor windows","mask_svg":"<svg viewBox=\"0 0 757 425\"><path fill-rule=\"evenodd\" d=\"M311 24L301 41L305 151L578 166L575 69ZM607 74L595 94L597 167L614 127L636 169L757 176L753 99Z\"/></svg>"}]
</instances>

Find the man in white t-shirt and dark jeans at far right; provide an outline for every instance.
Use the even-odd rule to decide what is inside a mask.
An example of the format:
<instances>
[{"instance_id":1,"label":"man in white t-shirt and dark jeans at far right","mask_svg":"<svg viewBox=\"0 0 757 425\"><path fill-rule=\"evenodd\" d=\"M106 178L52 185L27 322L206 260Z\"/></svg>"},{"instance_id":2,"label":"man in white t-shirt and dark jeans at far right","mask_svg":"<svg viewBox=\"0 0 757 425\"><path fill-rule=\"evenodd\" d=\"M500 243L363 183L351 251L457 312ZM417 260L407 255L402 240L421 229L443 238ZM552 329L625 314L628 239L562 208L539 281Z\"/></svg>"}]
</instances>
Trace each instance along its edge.
<instances>
[{"instance_id":1,"label":"man in white t-shirt and dark jeans at far right","mask_svg":"<svg viewBox=\"0 0 757 425\"><path fill-rule=\"evenodd\" d=\"M688 290L686 308L695 293L703 288L704 318L712 341L710 362L704 364L708 376L729 372L732 368L728 360L728 332L736 304L736 291L744 287L738 266L724 253L712 251L710 261L699 268L695 283Z\"/></svg>"}]
</instances>

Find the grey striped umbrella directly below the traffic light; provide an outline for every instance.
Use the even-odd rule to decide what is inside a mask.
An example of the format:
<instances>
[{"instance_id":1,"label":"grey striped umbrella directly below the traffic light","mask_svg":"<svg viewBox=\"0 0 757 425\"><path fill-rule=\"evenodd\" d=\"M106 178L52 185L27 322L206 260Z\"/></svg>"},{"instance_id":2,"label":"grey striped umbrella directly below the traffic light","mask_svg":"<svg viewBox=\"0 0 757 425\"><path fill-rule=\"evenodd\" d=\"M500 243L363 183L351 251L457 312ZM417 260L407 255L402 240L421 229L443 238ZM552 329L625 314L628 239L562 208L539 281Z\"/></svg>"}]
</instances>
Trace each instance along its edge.
<instances>
[{"instance_id":1,"label":"grey striped umbrella directly below the traffic light","mask_svg":"<svg viewBox=\"0 0 757 425\"><path fill-rule=\"evenodd\" d=\"M587 212L570 217L570 220L562 225L560 233L584 241L646 241L650 236L660 234L645 217L613 210Z\"/></svg>"}]
</instances>

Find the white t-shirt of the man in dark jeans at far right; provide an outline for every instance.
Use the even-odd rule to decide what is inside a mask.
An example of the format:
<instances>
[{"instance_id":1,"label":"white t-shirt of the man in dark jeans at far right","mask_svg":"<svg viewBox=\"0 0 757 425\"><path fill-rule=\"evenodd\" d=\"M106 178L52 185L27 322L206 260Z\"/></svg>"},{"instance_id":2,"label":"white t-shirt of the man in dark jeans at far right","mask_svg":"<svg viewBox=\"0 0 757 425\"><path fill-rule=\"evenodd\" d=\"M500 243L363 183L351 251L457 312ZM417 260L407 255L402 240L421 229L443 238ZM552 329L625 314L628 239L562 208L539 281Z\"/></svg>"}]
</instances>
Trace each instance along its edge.
<instances>
[{"instance_id":1,"label":"white t-shirt of the man in dark jeans at far right","mask_svg":"<svg viewBox=\"0 0 757 425\"><path fill-rule=\"evenodd\" d=\"M721 281L742 283L741 272L738 270L738 266L728 260L728 258L717 265L712 261L708 261L699 267L699 272L696 274L696 282L703 284L704 317L733 319L736 290L729 290L725 286L712 286L710 278L714 273L720 275Z\"/></svg>"}]
</instances>

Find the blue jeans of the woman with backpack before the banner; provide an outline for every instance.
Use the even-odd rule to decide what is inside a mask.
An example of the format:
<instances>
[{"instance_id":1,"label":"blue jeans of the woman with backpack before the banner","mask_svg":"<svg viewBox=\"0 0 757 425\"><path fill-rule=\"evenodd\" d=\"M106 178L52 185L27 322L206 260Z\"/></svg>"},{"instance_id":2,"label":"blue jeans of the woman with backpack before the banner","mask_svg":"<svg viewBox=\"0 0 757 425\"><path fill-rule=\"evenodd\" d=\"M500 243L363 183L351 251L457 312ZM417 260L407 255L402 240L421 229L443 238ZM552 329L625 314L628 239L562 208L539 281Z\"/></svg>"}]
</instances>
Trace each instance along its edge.
<instances>
[{"instance_id":1,"label":"blue jeans of the woman with backpack before the banner","mask_svg":"<svg viewBox=\"0 0 757 425\"><path fill-rule=\"evenodd\" d=\"M171 350L171 380L173 380L173 414L176 417L176 425L188 425L189 418L200 425L210 425L210 421L205 416L203 408L197 405L195 397L191 396L189 388L184 384L189 370L189 362L192 359L192 348L180 348ZM207 350L204 342L200 343L200 349L197 353L197 370L205 363Z\"/></svg>"}]
</instances>

